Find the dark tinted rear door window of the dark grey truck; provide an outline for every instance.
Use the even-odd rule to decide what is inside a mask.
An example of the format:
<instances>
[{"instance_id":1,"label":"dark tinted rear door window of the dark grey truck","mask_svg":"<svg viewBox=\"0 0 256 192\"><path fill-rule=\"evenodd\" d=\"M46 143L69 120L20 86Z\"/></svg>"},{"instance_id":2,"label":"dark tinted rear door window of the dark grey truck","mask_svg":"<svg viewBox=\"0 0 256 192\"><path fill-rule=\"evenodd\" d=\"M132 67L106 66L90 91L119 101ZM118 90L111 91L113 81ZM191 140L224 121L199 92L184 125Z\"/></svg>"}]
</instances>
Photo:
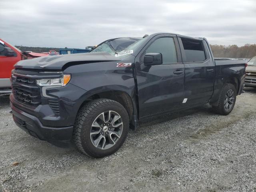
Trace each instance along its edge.
<instances>
[{"instance_id":1,"label":"dark tinted rear door window of the dark grey truck","mask_svg":"<svg viewBox=\"0 0 256 192\"><path fill-rule=\"evenodd\" d=\"M186 62L201 62L206 60L202 41L181 38L186 54Z\"/></svg>"}]
</instances>

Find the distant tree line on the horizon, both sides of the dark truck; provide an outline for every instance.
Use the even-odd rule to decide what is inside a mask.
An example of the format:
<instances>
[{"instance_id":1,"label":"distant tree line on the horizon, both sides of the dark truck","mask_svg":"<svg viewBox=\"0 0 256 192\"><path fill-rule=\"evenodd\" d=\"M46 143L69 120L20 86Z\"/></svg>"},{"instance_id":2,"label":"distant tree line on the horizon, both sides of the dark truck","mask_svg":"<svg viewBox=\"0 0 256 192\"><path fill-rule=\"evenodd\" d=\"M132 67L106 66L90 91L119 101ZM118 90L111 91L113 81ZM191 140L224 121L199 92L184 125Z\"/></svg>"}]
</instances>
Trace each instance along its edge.
<instances>
[{"instance_id":1,"label":"distant tree line on the horizon, both sides of the dark truck","mask_svg":"<svg viewBox=\"0 0 256 192\"><path fill-rule=\"evenodd\" d=\"M238 47L237 45L210 45L214 57L222 58L252 58L256 56L256 44L245 44ZM27 47L16 46L22 51L32 51L36 53L49 52L49 50L55 50L59 52L60 48L48 48L48 47Z\"/></svg>"}]
</instances>

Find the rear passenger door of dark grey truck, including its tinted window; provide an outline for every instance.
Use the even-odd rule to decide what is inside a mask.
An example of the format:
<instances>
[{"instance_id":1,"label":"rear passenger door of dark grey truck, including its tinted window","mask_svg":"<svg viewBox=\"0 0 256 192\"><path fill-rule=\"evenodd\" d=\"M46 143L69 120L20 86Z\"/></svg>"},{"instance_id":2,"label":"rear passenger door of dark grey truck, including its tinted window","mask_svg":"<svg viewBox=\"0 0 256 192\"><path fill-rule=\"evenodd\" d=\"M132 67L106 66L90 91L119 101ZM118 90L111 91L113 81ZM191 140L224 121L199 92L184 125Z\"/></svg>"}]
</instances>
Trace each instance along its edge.
<instances>
[{"instance_id":1,"label":"rear passenger door of dark grey truck, including its tinted window","mask_svg":"<svg viewBox=\"0 0 256 192\"><path fill-rule=\"evenodd\" d=\"M215 65L202 40L178 38L185 66L184 106L208 102L213 93Z\"/></svg>"}]
</instances>

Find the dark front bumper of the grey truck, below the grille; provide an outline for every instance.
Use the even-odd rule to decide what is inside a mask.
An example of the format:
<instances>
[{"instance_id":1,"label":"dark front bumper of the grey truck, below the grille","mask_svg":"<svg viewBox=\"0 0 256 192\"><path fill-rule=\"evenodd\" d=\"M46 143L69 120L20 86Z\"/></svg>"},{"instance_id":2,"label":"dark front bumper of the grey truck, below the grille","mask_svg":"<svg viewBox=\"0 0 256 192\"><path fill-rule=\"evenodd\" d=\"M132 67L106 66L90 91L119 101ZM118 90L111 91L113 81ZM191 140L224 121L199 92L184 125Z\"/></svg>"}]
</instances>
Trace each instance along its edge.
<instances>
[{"instance_id":1,"label":"dark front bumper of the grey truck, below the grille","mask_svg":"<svg viewBox=\"0 0 256 192\"><path fill-rule=\"evenodd\" d=\"M30 135L46 140L50 143L68 142L72 140L73 126L68 127L48 127L43 126L38 118L16 108L10 102L14 122L22 130Z\"/></svg>"}]
</instances>

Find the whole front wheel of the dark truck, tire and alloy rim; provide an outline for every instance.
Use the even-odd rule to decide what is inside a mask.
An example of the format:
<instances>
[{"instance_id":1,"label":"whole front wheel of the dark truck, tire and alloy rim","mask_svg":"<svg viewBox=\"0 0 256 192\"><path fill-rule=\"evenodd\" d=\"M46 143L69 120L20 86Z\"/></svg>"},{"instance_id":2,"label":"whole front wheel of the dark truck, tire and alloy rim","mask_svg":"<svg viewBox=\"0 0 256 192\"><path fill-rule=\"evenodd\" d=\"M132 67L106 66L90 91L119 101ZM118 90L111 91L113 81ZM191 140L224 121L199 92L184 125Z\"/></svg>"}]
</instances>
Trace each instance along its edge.
<instances>
[{"instance_id":1,"label":"whole front wheel of the dark truck, tire and alloy rim","mask_svg":"<svg viewBox=\"0 0 256 192\"><path fill-rule=\"evenodd\" d=\"M92 157L104 157L122 146L128 128L128 114L120 103L96 99L79 110L74 141L80 152Z\"/></svg>"}]
</instances>

